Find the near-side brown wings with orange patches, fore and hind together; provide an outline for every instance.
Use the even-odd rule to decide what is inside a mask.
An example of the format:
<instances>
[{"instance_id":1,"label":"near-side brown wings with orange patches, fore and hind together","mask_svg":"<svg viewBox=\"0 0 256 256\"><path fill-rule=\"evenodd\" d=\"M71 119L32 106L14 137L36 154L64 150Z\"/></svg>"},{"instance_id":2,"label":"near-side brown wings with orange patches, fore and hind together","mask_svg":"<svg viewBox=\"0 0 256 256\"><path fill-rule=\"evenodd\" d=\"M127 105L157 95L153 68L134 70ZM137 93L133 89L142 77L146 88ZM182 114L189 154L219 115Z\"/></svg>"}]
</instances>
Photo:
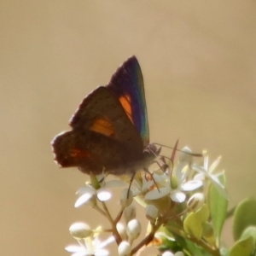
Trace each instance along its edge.
<instances>
[{"instance_id":1,"label":"near-side brown wings with orange patches, fore and hind together","mask_svg":"<svg viewBox=\"0 0 256 256\"><path fill-rule=\"evenodd\" d=\"M118 98L98 87L84 98L69 124L72 131L52 142L55 160L62 167L78 166L85 173L100 173L142 159L143 142Z\"/></svg>"}]
</instances>

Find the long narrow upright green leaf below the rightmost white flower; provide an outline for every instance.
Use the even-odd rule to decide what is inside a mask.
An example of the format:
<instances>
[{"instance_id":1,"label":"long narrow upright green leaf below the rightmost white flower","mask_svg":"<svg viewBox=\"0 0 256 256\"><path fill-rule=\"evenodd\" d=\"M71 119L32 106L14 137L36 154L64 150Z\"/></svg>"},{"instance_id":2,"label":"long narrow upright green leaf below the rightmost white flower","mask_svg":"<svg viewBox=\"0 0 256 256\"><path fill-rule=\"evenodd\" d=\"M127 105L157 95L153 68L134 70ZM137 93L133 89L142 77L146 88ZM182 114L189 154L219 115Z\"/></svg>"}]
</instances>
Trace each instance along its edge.
<instances>
[{"instance_id":1,"label":"long narrow upright green leaf below the rightmost white flower","mask_svg":"<svg viewBox=\"0 0 256 256\"><path fill-rule=\"evenodd\" d=\"M218 180L225 187L224 173L218 176ZM215 186L211 187L209 191L208 199L209 199L214 234L217 240L219 240L219 237L221 235L221 230L224 225L224 220L226 218L228 200L218 192L218 189L216 189Z\"/></svg>"}]
</instances>

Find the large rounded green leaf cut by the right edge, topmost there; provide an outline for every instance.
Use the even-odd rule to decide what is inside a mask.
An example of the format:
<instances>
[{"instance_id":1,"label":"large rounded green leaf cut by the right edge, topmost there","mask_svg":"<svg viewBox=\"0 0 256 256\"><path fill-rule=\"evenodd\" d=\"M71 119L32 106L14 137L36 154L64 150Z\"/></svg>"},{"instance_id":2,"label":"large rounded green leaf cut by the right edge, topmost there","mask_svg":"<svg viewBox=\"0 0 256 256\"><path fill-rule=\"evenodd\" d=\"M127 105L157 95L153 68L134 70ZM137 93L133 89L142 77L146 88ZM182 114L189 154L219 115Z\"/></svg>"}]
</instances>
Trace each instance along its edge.
<instances>
[{"instance_id":1,"label":"large rounded green leaf cut by the right edge, topmost there","mask_svg":"<svg viewBox=\"0 0 256 256\"><path fill-rule=\"evenodd\" d=\"M235 241L240 238L243 230L256 226L256 201L246 199L236 207L233 219L233 236Z\"/></svg>"}]
</instances>

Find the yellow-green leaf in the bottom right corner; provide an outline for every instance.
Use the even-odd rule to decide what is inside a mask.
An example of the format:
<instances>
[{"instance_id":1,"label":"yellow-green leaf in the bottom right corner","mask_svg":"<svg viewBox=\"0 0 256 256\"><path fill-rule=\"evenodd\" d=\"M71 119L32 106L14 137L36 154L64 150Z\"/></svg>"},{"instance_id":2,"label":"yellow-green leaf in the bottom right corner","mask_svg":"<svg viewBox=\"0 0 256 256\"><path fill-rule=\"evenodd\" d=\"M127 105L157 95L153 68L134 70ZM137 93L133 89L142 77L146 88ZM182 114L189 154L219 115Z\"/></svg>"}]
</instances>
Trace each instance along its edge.
<instances>
[{"instance_id":1,"label":"yellow-green leaf in the bottom right corner","mask_svg":"<svg viewBox=\"0 0 256 256\"><path fill-rule=\"evenodd\" d=\"M236 241L230 249L230 256L250 256L253 253L254 241L253 236L247 236L246 239Z\"/></svg>"}]
</instances>

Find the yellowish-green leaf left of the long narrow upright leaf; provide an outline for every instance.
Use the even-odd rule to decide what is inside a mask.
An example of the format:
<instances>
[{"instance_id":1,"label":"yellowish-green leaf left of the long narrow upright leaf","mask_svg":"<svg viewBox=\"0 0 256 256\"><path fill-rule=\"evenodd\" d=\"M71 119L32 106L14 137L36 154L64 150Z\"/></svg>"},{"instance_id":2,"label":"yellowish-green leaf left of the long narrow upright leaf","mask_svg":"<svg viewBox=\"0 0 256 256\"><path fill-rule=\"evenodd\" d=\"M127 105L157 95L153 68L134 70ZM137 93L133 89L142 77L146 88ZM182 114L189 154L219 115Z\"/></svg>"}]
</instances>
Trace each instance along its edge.
<instances>
[{"instance_id":1,"label":"yellowish-green leaf left of the long narrow upright leaf","mask_svg":"<svg viewBox=\"0 0 256 256\"><path fill-rule=\"evenodd\" d=\"M201 239L204 224L209 218L210 211L207 205L203 205L196 212L190 212L187 218L184 219L184 230L190 235L194 236L197 240Z\"/></svg>"}]
</instances>

